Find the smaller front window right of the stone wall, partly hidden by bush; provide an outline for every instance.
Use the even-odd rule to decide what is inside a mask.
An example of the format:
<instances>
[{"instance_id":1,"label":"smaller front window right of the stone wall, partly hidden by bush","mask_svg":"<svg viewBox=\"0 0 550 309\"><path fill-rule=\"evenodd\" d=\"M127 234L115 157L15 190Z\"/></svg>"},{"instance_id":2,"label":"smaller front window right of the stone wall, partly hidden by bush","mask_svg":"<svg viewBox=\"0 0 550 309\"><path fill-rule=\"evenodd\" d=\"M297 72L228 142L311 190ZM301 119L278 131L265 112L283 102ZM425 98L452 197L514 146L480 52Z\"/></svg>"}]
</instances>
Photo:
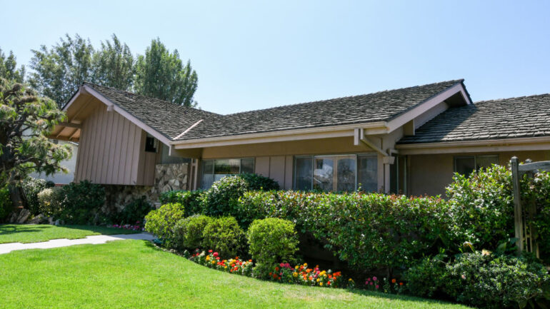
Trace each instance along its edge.
<instances>
[{"instance_id":1,"label":"smaller front window right of the stone wall, partly hidden by bush","mask_svg":"<svg viewBox=\"0 0 550 309\"><path fill-rule=\"evenodd\" d=\"M201 188L208 189L214 181L239 173L254 173L254 158L204 160Z\"/></svg>"}]
</instances>

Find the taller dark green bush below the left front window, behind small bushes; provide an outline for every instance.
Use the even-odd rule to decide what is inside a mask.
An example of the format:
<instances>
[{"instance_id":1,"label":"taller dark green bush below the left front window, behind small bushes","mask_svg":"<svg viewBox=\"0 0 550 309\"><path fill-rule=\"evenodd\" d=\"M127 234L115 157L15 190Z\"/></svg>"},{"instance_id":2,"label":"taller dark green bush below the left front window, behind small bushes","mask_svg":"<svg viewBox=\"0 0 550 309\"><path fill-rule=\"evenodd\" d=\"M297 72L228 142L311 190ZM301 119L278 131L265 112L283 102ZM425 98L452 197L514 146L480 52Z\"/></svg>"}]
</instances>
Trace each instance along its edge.
<instances>
[{"instance_id":1,"label":"taller dark green bush below the left front window, behind small bushes","mask_svg":"<svg viewBox=\"0 0 550 309\"><path fill-rule=\"evenodd\" d=\"M206 216L233 216L239 225L246 228L246 219L241 220L238 201L247 191L279 190L279 184L271 178L255 174L239 174L221 178L200 197Z\"/></svg>"}]
</instances>

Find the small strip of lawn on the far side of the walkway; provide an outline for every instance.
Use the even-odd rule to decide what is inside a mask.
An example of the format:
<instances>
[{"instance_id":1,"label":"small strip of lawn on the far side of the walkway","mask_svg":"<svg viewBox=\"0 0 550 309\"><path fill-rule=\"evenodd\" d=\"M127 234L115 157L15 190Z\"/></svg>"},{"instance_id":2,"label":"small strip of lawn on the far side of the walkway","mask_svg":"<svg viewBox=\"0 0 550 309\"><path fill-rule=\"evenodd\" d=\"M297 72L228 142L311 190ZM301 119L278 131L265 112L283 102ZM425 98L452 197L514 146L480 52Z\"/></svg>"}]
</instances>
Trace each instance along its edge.
<instances>
[{"instance_id":1,"label":"small strip of lawn on the far side of the walkway","mask_svg":"<svg viewBox=\"0 0 550 309\"><path fill-rule=\"evenodd\" d=\"M49 226L49 225L0 225L0 243L38 243L59 238L85 238L89 235L116 235L139 233L124 228L104 226Z\"/></svg>"}]
</instances>

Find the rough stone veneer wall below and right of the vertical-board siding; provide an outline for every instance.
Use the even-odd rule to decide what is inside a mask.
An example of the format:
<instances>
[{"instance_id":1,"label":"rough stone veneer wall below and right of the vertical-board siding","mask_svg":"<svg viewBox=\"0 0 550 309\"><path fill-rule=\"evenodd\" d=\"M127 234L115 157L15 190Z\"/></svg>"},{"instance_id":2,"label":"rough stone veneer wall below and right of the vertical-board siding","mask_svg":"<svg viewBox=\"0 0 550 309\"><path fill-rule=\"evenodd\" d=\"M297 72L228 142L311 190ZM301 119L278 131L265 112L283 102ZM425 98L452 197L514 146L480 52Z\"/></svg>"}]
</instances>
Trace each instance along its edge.
<instances>
[{"instance_id":1,"label":"rough stone veneer wall below and right of the vertical-board siding","mask_svg":"<svg viewBox=\"0 0 550 309\"><path fill-rule=\"evenodd\" d=\"M155 186L104 185L105 210L121 211L126 204L144 196L146 201L158 203L161 193L189 189L189 163L157 164Z\"/></svg>"}]
</instances>

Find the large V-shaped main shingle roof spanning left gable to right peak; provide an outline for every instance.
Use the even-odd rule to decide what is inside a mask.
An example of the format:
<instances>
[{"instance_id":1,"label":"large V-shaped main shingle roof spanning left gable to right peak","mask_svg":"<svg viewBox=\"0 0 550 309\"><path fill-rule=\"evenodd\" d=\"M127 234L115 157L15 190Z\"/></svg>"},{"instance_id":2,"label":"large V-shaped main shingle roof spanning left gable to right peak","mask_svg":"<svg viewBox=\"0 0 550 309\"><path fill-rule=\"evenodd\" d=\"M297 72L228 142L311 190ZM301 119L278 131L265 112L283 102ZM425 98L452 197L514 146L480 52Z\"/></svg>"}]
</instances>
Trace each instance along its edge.
<instances>
[{"instance_id":1,"label":"large V-shaped main shingle roof spanning left gable to right peak","mask_svg":"<svg viewBox=\"0 0 550 309\"><path fill-rule=\"evenodd\" d=\"M94 83L86 83L86 85L171 139L203 119L201 123L179 138L179 140L185 140L389 121L463 81L461 79L443 81L361 96L333 98L229 115L176 106L156 98L139 96Z\"/></svg>"}]
</instances>

